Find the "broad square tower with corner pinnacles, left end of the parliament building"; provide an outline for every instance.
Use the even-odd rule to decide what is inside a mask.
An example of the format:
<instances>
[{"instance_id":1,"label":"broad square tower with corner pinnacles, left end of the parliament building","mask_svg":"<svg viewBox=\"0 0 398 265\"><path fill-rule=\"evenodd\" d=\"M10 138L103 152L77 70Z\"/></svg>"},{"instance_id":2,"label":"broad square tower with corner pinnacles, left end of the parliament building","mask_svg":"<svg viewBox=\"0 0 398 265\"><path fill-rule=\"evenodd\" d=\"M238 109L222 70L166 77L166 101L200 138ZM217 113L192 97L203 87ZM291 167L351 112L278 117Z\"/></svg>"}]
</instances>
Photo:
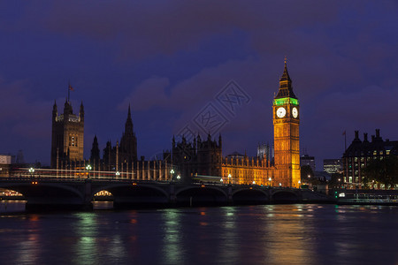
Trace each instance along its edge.
<instances>
[{"instance_id":1,"label":"broad square tower with corner pinnacles, left end of the parliament building","mask_svg":"<svg viewBox=\"0 0 398 265\"><path fill-rule=\"evenodd\" d=\"M84 145L84 108L73 114L72 104L65 101L64 113L58 115L57 102L52 108L51 168L61 161L82 161Z\"/></svg>"}]
</instances>

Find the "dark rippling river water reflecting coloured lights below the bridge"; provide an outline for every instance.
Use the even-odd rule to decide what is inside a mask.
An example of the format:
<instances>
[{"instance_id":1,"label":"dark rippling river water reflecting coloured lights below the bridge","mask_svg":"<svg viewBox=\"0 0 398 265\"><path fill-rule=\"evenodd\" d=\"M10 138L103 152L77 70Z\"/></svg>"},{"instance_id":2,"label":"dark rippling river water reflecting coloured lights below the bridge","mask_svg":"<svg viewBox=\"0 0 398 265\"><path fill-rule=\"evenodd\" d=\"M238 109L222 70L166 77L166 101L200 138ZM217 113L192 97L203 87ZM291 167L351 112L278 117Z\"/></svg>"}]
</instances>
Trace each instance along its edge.
<instances>
[{"instance_id":1,"label":"dark rippling river water reflecting coloured lights below the bridge","mask_svg":"<svg viewBox=\"0 0 398 265\"><path fill-rule=\"evenodd\" d=\"M398 264L398 207L27 213L0 203L2 264Z\"/></svg>"}]
</instances>

